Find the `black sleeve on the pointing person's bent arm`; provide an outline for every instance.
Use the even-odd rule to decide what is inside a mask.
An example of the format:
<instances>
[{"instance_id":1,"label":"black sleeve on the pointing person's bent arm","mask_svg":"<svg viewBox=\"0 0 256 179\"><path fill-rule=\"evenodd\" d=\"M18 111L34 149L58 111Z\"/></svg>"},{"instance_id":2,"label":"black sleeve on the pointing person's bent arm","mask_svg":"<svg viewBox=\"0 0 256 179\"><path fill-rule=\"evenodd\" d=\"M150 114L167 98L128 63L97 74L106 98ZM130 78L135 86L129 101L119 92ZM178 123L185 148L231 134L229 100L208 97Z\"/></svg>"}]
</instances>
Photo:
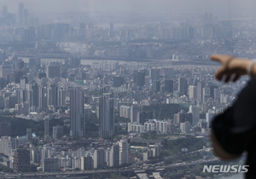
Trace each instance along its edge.
<instances>
[{"instance_id":1,"label":"black sleeve on the pointing person's bent arm","mask_svg":"<svg viewBox=\"0 0 256 179\"><path fill-rule=\"evenodd\" d=\"M255 136L255 126L256 77L241 90L232 107L212 120L212 130L226 152L241 154Z\"/></svg>"}]
</instances>

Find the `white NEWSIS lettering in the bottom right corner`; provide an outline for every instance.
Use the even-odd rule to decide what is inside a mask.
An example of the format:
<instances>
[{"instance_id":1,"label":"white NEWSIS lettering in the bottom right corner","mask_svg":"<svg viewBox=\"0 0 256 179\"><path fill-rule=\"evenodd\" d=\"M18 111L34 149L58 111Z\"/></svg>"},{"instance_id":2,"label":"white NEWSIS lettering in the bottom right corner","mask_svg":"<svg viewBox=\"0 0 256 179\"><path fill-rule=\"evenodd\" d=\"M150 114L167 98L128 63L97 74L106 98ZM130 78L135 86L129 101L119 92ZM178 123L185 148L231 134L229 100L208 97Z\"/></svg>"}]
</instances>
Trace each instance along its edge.
<instances>
[{"instance_id":1,"label":"white NEWSIS lettering in the bottom right corner","mask_svg":"<svg viewBox=\"0 0 256 179\"><path fill-rule=\"evenodd\" d=\"M203 173L247 173L249 165L204 165Z\"/></svg>"}]
</instances>

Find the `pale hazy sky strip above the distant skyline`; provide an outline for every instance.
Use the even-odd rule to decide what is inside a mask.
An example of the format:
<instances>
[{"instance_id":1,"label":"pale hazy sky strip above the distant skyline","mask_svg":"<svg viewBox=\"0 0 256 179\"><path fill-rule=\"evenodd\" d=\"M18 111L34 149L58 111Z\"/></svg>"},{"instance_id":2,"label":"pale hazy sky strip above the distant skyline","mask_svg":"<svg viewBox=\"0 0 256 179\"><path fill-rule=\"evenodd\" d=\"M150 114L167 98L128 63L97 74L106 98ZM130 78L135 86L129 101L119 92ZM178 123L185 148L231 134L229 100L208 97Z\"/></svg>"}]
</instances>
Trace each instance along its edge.
<instances>
[{"instance_id":1,"label":"pale hazy sky strip above the distant skyline","mask_svg":"<svg viewBox=\"0 0 256 179\"><path fill-rule=\"evenodd\" d=\"M16 13L18 4L33 14L37 12L102 11L102 12L209 12L250 15L256 11L255 0L1 0L9 12Z\"/></svg>"}]
</instances>

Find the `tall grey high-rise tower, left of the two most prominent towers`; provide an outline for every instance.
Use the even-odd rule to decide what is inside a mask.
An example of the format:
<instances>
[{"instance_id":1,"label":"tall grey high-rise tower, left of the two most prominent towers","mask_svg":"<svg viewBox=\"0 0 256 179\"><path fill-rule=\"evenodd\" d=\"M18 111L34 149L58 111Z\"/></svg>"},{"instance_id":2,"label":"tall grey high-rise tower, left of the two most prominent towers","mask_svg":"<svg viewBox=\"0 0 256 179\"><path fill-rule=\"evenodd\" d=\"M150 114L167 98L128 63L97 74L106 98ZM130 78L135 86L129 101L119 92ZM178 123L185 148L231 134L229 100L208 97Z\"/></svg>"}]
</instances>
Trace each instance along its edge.
<instances>
[{"instance_id":1,"label":"tall grey high-rise tower, left of the two most prominent towers","mask_svg":"<svg viewBox=\"0 0 256 179\"><path fill-rule=\"evenodd\" d=\"M84 135L84 93L80 88L73 88L70 90L70 136Z\"/></svg>"}]
</instances>

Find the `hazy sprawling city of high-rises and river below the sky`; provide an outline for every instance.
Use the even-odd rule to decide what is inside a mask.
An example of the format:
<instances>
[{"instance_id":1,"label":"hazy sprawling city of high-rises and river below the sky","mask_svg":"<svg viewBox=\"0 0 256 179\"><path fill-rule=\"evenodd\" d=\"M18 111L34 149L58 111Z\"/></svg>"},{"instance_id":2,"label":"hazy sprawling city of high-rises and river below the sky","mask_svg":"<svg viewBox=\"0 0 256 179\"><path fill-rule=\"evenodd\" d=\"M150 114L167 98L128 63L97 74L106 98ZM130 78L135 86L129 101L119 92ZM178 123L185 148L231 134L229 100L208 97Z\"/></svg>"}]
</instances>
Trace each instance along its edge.
<instances>
[{"instance_id":1,"label":"hazy sprawling city of high-rises and river below the sky","mask_svg":"<svg viewBox=\"0 0 256 179\"><path fill-rule=\"evenodd\" d=\"M221 178L234 173L203 166L243 165L219 160L209 135L248 78L218 82L210 56L255 58L255 19L27 2L0 3L0 178Z\"/></svg>"}]
</instances>

